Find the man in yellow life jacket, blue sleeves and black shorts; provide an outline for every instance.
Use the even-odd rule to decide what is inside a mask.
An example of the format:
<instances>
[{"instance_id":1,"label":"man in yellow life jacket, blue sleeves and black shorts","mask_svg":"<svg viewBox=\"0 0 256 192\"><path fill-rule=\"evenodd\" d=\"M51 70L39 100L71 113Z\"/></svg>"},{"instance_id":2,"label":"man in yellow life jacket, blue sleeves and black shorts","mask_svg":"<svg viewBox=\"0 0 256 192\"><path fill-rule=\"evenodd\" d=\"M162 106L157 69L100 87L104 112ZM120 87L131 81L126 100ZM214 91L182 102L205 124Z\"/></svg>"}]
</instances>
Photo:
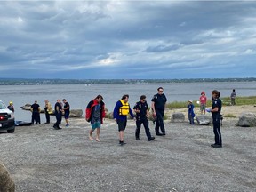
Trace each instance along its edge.
<instances>
[{"instance_id":1,"label":"man in yellow life jacket, blue sleeves and black shorts","mask_svg":"<svg viewBox=\"0 0 256 192\"><path fill-rule=\"evenodd\" d=\"M132 109L128 103L129 95L123 95L121 100L116 102L116 107L114 108L113 117L118 124L118 131L119 131L119 144L123 146L126 144L124 142L124 130L127 124L127 116L130 114L132 118L135 120L135 117L132 113Z\"/></svg>"}]
</instances>

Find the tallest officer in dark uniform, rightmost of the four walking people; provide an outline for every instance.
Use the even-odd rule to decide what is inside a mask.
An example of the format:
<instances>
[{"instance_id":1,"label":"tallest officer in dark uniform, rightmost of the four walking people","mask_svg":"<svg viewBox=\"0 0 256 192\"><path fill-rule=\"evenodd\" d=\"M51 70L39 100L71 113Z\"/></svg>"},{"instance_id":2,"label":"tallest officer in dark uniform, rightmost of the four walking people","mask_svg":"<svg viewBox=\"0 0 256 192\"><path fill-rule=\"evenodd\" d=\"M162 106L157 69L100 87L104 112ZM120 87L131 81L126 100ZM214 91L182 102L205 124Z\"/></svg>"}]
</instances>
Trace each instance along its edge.
<instances>
[{"instance_id":1,"label":"tallest officer in dark uniform, rightmost of the four walking people","mask_svg":"<svg viewBox=\"0 0 256 192\"><path fill-rule=\"evenodd\" d=\"M151 108L153 110L153 116L156 116L156 135L163 136L165 135L165 129L164 129L164 110L166 105L166 97L164 95L164 88L159 87L157 89L158 93L154 95L152 98ZM161 129L161 132L159 132L159 127Z\"/></svg>"}]
</instances>

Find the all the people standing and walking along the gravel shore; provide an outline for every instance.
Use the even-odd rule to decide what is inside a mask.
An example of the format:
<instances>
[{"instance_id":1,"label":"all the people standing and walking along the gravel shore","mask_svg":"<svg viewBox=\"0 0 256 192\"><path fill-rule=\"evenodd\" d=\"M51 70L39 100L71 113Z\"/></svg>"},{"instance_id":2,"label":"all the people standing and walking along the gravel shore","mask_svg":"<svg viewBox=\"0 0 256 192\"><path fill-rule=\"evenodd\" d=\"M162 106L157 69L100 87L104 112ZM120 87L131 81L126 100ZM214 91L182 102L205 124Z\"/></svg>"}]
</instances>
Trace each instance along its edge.
<instances>
[{"instance_id":1,"label":"all the people standing and walking along the gravel shore","mask_svg":"<svg viewBox=\"0 0 256 192\"><path fill-rule=\"evenodd\" d=\"M235 105L236 92L233 90L231 94L232 104ZM69 125L69 113L70 106L67 100L63 99L63 103L61 103L60 99L57 100L54 106L54 115L56 116L56 123L53 125L53 128L56 130L60 130L60 124L62 116L65 117L66 126ZM145 132L148 138L148 141L155 140L155 137L151 135L148 126L148 117L149 117L149 107L146 100L145 95L140 96L140 100L136 102L133 108L130 107L129 104L129 95L124 94L121 100L116 102L116 106L114 108L113 117L116 120L116 124L118 126L119 132L119 144L123 146L126 144L124 142L124 130L127 125L127 116L130 114L132 119L136 121L136 131L135 131L135 140L140 140L140 128L141 124L143 124L145 128ZM166 134L164 128L164 110L166 107L167 98L164 95L164 88L159 87L157 89L157 93L153 96L151 100L151 109L153 113L153 117L155 118L155 132L156 136L164 136ZM220 133L220 120L221 120L221 107L222 103L220 100L220 92L217 90L212 91L212 108L206 108L207 98L205 96L205 92L201 92L200 97L200 110L201 114L205 114L205 111L212 113L212 123L213 123L213 132L215 135L215 143L212 144L213 148L221 148L222 140ZM53 114L52 106L49 100L44 100L44 113L46 118L45 124L50 124L50 115ZM14 107L12 101L10 101L8 108L14 112ZM133 115L133 112L135 116ZM32 120L31 123L41 124L40 121L40 106L37 104L35 100L34 104L31 105L30 108L32 112ZM94 100L91 100L86 109L85 109L85 119L86 121L91 123L92 129L89 132L89 140L94 140L92 137L92 133L96 130L96 141L100 141L100 126L103 123L103 119L106 116L105 113L105 103L103 102L103 97L98 95ZM188 119L189 124L194 124L194 105L193 100L188 100Z\"/></svg>"}]
</instances>

